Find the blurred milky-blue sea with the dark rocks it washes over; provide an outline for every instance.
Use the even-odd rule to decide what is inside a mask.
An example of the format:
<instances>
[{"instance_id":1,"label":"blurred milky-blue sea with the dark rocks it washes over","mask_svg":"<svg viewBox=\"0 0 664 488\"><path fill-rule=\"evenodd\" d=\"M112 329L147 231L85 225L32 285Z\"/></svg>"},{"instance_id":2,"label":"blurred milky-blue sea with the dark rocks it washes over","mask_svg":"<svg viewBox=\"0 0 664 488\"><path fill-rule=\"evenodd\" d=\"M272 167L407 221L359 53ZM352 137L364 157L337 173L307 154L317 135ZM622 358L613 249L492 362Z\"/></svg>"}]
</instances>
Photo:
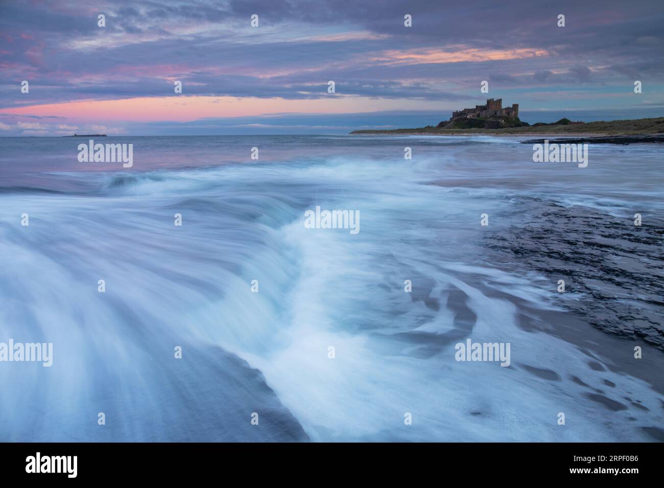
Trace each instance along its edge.
<instances>
[{"instance_id":1,"label":"blurred milky-blue sea with the dark rocks it washes over","mask_svg":"<svg viewBox=\"0 0 664 488\"><path fill-rule=\"evenodd\" d=\"M0 138L0 441L664 441L661 145L93 139Z\"/></svg>"}]
</instances>

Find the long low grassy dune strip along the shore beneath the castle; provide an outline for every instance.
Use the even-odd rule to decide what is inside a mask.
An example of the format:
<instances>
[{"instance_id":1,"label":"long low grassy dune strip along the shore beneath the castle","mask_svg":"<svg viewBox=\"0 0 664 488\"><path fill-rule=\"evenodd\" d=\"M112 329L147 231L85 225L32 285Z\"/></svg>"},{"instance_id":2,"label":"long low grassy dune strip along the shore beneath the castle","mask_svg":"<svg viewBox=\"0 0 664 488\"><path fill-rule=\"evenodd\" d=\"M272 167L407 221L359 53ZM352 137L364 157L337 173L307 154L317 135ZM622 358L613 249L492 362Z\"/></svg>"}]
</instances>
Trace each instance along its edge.
<instances>
[{"instance_id":1,"label":"long low grassy dune strip along the shore beneath the castle","mask_svg":"<svg viewBox=\"0 0 664 488\"><path fill-rule=\"evenodd\" d=\"M505 129L436 129L436 127L420 127L418 129L391 129L391 130L360 130L351 134L438 134L438 135L536 135L536 134L606 134L606 135L634 135L634 134L661 134L664 133L664 117L656 119L612 120L610 122L588 122L570 125L538 125L533 127L507 127Z\"/></svg>"}]
</instances>

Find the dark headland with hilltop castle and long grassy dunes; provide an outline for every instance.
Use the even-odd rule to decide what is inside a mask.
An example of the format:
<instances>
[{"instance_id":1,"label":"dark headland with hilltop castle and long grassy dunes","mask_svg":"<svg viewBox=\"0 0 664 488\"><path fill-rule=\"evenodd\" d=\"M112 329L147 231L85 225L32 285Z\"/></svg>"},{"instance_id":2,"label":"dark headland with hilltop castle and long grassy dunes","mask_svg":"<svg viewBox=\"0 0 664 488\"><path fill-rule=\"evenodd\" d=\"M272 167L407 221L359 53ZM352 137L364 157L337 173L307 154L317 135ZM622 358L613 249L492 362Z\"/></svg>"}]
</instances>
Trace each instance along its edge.
<instances>
[{"instance_id":1,"label":"dark headland with hilltop castle and long grassy dunes","mask_svg":"<svg viewBox=\"0 0 664 488\"><path fill-rule=\"evenodd\" d=\"M449 120L438 125L427 125L416 129L367 129L351 134L382 135L637 135L664 134L664 117L636 120L612 120L610 122L572 122L562 118L557 122L538 122L533 125L519 119L519 104L503 107L503 99L489 98L486 104L475 108L464 108L452 112ZM657 138L659 139L659 137Z\"/></svg>"}]
</instances>

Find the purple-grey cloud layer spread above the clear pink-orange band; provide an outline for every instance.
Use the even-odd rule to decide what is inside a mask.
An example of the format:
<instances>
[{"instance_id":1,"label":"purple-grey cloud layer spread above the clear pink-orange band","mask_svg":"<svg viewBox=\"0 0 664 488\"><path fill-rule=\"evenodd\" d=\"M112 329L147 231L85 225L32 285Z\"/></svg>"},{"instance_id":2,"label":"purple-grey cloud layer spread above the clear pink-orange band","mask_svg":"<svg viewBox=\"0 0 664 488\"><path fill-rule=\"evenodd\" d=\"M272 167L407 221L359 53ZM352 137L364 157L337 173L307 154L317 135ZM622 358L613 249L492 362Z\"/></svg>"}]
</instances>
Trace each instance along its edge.
<instances>
[{"instance_id":1,"label":"purple-grey cloud layer spread above the clear pink-orange band","mask_svg":"<svg viewBox=\"0 0 664 488\"><path fill-rule=\"evenodd\" d=\"M403 25L406 11L412 27ZM560 12L564 28L556 26ZM4 0L0 110L29 107L36 118L64 102L159 99L173 96L173 80L183 82L183 106L193 96L306 106L327 99L327 80L335 80L339 98L376 111L422 100L480 102L481 80L491 80L492 95L522 105L538 90L596 86L606 87L603 103L611 106L625 78L643 81L661 100L663 23L660 0L637 7L560 0L555 9L523 0L116 0L101 10L61 0L33 3L29 15L23 0ZM24 79L29 94L20 92ZM554 103L531 100L539 104L533 108ZM555 102L584 103L574 96ZM78 130L70 127L87 121L58 122L67 127L60 130Z\"/></svg>"}]
</instances>

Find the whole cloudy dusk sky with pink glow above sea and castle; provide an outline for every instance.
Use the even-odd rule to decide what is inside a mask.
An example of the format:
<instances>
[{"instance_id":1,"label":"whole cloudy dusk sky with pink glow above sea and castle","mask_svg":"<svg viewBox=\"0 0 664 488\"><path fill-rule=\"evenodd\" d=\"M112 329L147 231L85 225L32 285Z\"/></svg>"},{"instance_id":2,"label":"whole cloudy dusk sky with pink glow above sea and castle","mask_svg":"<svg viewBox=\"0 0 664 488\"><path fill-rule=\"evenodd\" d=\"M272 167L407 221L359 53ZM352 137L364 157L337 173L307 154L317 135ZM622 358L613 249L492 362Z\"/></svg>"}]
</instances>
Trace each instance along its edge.
<instances>
[{"instance_id":1,"label":"whole cloudy dusk sky with pink glow above sea and castle","mask_svg":"<svg viewBox=\"0 0 664 488\"><path fill-rule=\"evenodd\" d=\"M663 25L662 0L0 0L0 136L659 117Z\"/></svg>"}]
</instances>

